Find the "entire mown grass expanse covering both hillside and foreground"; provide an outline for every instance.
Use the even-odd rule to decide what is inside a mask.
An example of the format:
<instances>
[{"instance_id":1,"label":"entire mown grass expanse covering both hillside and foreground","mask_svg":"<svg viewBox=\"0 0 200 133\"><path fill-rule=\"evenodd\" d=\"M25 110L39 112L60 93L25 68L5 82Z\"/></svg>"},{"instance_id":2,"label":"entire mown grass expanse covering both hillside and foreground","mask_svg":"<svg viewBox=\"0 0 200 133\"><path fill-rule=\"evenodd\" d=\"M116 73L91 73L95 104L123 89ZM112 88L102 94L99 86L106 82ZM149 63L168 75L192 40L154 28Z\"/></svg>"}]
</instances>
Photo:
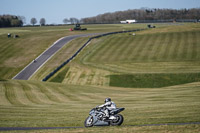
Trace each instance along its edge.
<instances>
[{"instance_id":1,"label":"entire mown grass expanse covering both hillside and foreground","mask_svg":"<svg viewBox=\"0 0 200 133\"><path fill-rule=\"evenodd\" d=\"M69 32L70 26L0 29L0 127L82 127L90 109L111 97L126 108L121 127L13 132L200 132L195 124L138 126L200 122L200 24L156 26L136 36L123 33L92 40L50 82L41 80L88 37L64 46L29 81L11 78L63 36L146 24L84 25L86 32ZM8 39L7 32L20 38Z\"/></svg>"}]
</instances>

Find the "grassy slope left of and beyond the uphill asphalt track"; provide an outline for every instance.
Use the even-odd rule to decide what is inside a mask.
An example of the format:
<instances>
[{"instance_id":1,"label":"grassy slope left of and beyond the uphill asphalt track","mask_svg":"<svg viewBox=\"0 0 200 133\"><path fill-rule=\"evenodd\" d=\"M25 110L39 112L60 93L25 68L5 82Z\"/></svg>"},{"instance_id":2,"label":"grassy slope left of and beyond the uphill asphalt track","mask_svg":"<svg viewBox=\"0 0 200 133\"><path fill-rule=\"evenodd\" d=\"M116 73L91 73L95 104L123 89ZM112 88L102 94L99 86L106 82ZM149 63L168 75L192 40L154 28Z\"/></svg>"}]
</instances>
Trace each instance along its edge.
<instances>
[{"instance_id":1,"label":"grassy slope left of and beyond the uphill asphalt track","mask_svg":"<svg viewBox=\"0 0 200 133\"><path fill-rule=\"evenodd\" d=\"M146 25L83 25L83 28L88 28L88 31L84 32L69 31L69 28L73 28L73 25L0 28L0 78L11 79L14 77L61 37L74 34L121 31L144 26ZM20 37L7 38L8 33L17 34ZM52 70L51 66L50 70Z\"/></svg>"}]
</instances>

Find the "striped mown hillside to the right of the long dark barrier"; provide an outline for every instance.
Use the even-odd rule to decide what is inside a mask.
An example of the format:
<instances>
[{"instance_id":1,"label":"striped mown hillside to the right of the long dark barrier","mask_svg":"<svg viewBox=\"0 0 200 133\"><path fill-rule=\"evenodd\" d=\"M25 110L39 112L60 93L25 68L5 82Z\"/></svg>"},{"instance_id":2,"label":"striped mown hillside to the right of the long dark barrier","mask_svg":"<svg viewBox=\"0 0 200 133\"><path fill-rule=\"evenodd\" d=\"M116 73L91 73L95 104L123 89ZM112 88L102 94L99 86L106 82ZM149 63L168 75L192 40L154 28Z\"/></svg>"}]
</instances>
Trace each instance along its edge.
<instances>
[{"instance_id":1,"label":"striped mown hillside to the right of the long dark barrier","mask_svg":"<svg viewBox=\"0 0 200 133\"><path fill-rule=\"evenodd\" d=\"M136 36L132 36L132 33L123 33L98 38L67 65L63 72L62 70L59 72L59 75L62 75L62 80L59 82L147 88L198 82L200 79L198 36L200 36L199 24L184 24L164 25L136 32ZM77 42L80 41L86 40L79 39L70 45L78 46L80 43ZM62 53L67 51L67 47L62 49ZM59 57L61 53L49 63L57 62ZM40 77L37 75L47 72L45 70L49 65L44 66L33 79L38 79ZM124 80L128 78L129 80ZM56 79L56 76L53 79ZM149 86L141 86L146 81L158 82L158 85L147 83ZM138 82L139 86L136 85ZM167 83L159 84L161 82Z\"/></svg>"}]
</instances>

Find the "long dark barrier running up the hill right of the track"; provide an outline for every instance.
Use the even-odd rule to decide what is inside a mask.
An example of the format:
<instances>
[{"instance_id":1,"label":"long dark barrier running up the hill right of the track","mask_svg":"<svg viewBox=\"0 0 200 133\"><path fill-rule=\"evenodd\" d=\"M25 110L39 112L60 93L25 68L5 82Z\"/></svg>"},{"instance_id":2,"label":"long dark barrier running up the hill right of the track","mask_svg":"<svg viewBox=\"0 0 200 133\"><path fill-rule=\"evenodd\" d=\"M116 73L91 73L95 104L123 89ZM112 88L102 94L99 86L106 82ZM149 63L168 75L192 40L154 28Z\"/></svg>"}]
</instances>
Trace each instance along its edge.
<instances>
[{"instance_id":1,"label":"long dark barrier running up the hill right of the track","mask_svg":"<svg viewBox=\"0 0 200 133\"><path fill-rule=\"evenodd\" d=\"M81 52L81 50L92 40L95 38L100 38L103 36L108 36L108 35L112 35L112 34L119 34L119 33L127 33L127 32L136 32L136 31L140 31L140 30L144 30L144 29L136 29L136 30L128 30L128 31L118 31L118 32L109 32L109 33L105 33L105 34L101 34L101 35L97 35L94 37L91 37L88 39L88 41L81 47L79 48L76 53L74 55L72 55L72 57L70 57L69 59L67 59L65 62L63 62L59 67L57 67L53 72L51 72L49 75L47 75L42 81L47 81L49 78L51 78L56 72L58 72L62 67L64 67L66 64L68 64L71 60L73 60L79 52Z\"/></svg>"}]
</instances>

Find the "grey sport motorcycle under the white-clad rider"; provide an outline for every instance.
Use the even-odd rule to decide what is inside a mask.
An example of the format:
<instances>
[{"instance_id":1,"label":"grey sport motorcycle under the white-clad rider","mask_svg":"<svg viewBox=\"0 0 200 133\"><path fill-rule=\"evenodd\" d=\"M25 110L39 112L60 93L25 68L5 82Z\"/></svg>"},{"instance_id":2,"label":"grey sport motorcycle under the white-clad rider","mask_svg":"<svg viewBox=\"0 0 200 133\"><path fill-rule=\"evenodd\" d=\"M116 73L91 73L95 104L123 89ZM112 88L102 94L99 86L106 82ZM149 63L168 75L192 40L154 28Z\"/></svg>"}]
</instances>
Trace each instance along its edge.
<instances>
[{"instance_id":1,"label":"grey sport motorcycle under the white-clad rider","mask_svg":"<svg viewBox=\"0 0 200 133\"><path fill-rule=\"evenodd\" d=\"M116 108L110 111L110 117L105 117L106 114L104 113L105 107L103 108L93 108L89 116L86 118L84 125L85 127L92 127L92 126L120 126L124 118L121 114L125 108Z\"/></svg>"}]
</instances>

